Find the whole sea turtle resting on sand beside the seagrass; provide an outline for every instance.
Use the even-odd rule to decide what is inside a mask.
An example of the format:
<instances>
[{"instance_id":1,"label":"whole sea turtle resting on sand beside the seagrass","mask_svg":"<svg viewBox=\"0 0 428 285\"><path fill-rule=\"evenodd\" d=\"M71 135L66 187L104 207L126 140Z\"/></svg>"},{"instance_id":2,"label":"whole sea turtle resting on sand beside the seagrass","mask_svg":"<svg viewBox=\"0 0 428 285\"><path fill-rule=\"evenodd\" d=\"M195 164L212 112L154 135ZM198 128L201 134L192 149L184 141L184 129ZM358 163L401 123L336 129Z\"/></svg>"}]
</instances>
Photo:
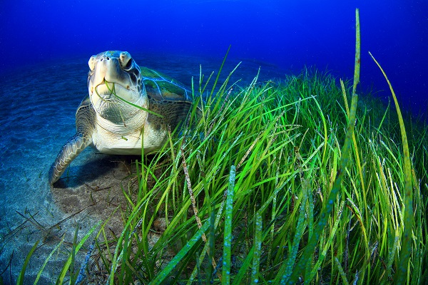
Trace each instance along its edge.
<instances>
[{"instance_id":1,"label":"whole sea turtle resting on sand beside the seagrass","mask_svg":"<svg viewBox=\"0 0 428 285\"><path fill-rule=\"evenodd\" d=\"M140 67L126 51L106 51L89 59L89 95L76 111L76 134L49 170L56 182L70 162L91 145L111 155L158 150L189 113L191 93L178 81Z\"/></svg>"}]
</instances>

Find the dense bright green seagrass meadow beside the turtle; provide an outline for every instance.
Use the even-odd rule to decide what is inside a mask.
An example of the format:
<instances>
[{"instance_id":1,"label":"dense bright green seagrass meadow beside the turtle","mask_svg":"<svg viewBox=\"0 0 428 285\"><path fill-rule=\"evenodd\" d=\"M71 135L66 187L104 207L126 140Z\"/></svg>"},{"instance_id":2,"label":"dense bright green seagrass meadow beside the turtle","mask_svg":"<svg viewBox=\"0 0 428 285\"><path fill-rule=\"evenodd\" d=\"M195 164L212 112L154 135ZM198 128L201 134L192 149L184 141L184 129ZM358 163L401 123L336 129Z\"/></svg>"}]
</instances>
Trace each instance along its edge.
<instances>
[{"instance_id":1,"label":"dense bright green seagrass meadow beside the turtle","mask_svg":"<svg viewBox=\"0 0 428 285\"><path fill-rule=\"evenodd\" d=\"M305 68L240 87L219 82L223 64L195 78L188 121L123 179L123 232L108 234L106 217L60 238L44 266L68 259L52 283L427 282L428 128L392 87L389 105L357 95L358 13L353 81Z\"/></svg>"}]
</instances>

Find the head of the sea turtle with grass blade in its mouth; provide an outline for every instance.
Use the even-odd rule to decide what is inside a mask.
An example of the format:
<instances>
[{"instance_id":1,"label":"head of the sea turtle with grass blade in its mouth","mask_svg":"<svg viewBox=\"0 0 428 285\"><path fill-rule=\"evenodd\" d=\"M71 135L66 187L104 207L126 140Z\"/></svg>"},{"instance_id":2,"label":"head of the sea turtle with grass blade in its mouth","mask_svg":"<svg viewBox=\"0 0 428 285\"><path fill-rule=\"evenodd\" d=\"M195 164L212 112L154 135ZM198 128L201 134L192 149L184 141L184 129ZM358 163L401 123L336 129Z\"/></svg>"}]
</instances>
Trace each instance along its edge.
<instances>
[{"instance_id":1,"label":"head of the sea turtle with grass blade in its mouth","mask_svg":"<svg viewBox=\"0 0 428 285\"><path fill-rule=\"evenodd\" d=\"M132 107L126 101L147 107L140 67L127 51L106 51L91 56L88 62L88 91L93 108L111 121L123 120L123 108ZM126 101L125 101L126 100Z\"/></svg>"}]
</instances>

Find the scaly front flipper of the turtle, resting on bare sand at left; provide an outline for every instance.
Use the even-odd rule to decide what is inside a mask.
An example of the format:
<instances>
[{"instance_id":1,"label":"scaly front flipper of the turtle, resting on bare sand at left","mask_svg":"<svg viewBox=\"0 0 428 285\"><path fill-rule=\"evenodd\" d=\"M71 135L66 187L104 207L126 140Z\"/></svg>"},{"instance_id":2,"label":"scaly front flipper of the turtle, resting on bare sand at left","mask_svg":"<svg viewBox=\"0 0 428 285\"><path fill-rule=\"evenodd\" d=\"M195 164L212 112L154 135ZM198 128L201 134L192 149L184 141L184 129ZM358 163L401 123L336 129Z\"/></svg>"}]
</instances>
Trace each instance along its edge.
<instances>
[{"instance_id":1,"label":"scaly front flipper of the turtle, resting on bare sand at left","mask_svg":"<svg viewBox=\"0 0 428 285\"><path fill-rule=\"evenodd\" d=\"M49 170L49 184L53 185L66 171L68 165L82 152L92 140L86 138L83 133L76 133L62 147L55 162Z\"/></svg>"}]
</instances>

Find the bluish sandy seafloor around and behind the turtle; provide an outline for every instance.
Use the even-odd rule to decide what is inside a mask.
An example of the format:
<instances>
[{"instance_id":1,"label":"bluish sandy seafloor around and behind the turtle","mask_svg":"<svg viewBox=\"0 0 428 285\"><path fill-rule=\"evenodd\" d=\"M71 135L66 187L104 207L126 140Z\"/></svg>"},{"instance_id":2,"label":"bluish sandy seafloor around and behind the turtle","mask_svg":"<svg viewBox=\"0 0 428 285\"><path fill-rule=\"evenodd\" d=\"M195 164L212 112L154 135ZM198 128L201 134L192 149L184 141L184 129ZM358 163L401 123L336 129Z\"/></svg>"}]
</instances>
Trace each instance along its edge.
<instances>
[{"instance_id":1,"label":"bluish sandy seafloor around and behind the turtle","mask_svg":"<svg viewBox=\"0 0 428 285\"><path fill-rule=\"evenodd\" d=\"M195 84L198 83L200 64L207 78L212 71L218 71L223 61L223 58L165 54L131 55L140 66L161 71L188 87L192 76ZM106 219L123 203L119 183L128 175L129 157L102 155L88 147L68 167L68 179L60 180L56 188L48 183L49 167L74 134L76 108L88 94L90 56L0 73L0 273L4 284L16 283L26 255L36 241L40 240L39 246L26 269L24 284L33 284L61 237L64 242L72 243L78 227L80 240L93 224ZM228 60L222 77L238 62ZM259 66L260 63L243 61L233 81L242 78L240 86L247 85ZM275 66L262 65L259 81L283 75ZM120 234L120 219L109 227ZM76 267L80 268L84 255L84 252L78 254ZM56 282L65 257L64 251L51 257L39 284Z\"/></svg>"}]
</instances>

